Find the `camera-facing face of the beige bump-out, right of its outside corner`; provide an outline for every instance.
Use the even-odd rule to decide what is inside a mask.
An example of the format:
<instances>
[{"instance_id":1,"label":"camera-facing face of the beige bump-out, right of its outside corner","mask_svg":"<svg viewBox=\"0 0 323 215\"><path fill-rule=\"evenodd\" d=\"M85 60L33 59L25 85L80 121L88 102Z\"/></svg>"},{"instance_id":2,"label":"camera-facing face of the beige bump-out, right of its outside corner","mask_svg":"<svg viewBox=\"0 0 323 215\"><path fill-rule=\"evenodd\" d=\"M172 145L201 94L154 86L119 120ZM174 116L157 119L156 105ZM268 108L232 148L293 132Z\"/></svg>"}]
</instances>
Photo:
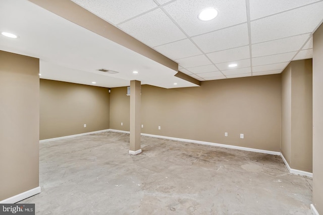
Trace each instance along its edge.
<instances>
[{"instance_id":1,"label":"camera-facing face of the beige bump-out, right of its outside corner","mask_svg":"<svg viewBox=\"0 0 323 215\"><path fill-rule=\"evenodd\" d=\"M312 59L292 65L292 154L290 167L312 172Z\"/></svg>"}]
</instances>

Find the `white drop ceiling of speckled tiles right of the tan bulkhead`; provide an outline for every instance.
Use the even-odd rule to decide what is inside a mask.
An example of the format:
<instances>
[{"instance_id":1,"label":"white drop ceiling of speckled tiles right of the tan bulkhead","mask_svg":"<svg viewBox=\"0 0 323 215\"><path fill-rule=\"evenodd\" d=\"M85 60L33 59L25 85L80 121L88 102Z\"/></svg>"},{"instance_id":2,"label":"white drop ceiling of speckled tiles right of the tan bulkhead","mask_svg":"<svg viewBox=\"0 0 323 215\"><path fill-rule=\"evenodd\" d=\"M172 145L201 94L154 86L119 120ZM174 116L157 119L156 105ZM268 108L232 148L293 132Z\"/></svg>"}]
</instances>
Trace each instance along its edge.
<instances>
[{"instance_id":1,"label":"white drop ceiling of speckled tiles right of the tan bulkhead","mask_svg":"<svg viewBox=\"0 0 323 215\"><path fill-rule=\"evenodd\" d=\"M315 0L73 0L179 63L199 80L278 74L312 57L312 33L323 21ZM216 19L197 19L205 8ZM230 63L237 63L229 68Z\"/></svg>"}]
</instances>

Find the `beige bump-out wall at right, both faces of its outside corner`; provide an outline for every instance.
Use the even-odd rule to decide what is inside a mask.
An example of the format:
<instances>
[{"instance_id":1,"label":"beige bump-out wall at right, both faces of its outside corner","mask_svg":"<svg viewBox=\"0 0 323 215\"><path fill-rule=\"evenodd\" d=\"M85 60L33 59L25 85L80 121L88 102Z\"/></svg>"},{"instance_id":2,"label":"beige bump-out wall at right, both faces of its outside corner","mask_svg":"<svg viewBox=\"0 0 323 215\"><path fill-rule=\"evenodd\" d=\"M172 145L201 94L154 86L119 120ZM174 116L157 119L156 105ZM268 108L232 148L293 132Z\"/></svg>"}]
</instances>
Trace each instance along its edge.
<instances>
[{"instance_id":1,"label":"beige bump-out wall at right, both faces of its outside corner","mask_svg":"<svg viewBox=\"0 0 323 215\"><path fill-rule=\"evenodd\" d=\"M312 172L312 59L282 73L281 151L292 169Z\"/></svg>"}]
</instances>

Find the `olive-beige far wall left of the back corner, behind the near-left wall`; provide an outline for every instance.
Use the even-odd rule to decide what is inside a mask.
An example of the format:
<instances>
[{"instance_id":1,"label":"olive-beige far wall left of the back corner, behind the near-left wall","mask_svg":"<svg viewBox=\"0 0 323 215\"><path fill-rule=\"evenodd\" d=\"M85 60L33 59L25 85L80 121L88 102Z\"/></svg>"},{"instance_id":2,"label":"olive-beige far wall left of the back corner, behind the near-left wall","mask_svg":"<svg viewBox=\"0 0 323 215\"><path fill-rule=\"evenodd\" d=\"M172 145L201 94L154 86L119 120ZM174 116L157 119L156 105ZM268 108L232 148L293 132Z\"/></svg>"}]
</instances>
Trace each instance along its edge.
<instances>
[{"instance_id":1,"label":"olive-beige far wall left of the back corner, behind the near-left wall","mask_svg":"<svg viewBox=\"0 0 323 215\"><path fill-rule=\"evenodd\" d=\"M107 88L41 79L40 139L108 129L109 98Z\"/></svg>"}]
</instances>

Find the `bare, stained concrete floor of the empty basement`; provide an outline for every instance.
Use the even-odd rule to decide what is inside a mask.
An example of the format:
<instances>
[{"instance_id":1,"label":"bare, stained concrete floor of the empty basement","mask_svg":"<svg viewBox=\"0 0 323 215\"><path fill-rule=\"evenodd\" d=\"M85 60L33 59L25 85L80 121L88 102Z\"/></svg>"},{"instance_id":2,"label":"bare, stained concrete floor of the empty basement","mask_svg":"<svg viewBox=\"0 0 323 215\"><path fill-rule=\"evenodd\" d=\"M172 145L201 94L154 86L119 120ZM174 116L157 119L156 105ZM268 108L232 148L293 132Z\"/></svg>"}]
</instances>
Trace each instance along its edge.
<instances>
[{"instance_id":1,"label":"bare, stained concrete floor of the empty basement","mask_svg":"<svg viewBox=\"0 0 323 215\"><path fill-rule=\"evenodd\" d=\"M40 144L36 214L312 214L279 156L103 132Z\"/></svg>"}]
</instances>

